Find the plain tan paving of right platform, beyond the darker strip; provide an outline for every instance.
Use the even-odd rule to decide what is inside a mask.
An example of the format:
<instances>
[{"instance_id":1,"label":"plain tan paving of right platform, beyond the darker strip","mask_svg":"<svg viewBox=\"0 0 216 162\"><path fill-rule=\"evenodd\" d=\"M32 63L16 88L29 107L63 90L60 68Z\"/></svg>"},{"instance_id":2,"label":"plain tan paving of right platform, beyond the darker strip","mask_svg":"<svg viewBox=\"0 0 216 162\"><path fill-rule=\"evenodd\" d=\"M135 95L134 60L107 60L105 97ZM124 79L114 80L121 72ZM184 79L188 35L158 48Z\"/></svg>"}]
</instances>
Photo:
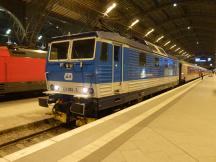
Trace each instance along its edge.
<instances>
[{"instance_id":1,"label":"plain tan paving of right platform, beyond the darker strip","mask_svg":"<svg viewBox=\"0 0 216 162\"><path fill-rule=\"evenodd\" d=\"M216 78L206 77L103 162L216 162Z\"/></svg>"}]
</instances>

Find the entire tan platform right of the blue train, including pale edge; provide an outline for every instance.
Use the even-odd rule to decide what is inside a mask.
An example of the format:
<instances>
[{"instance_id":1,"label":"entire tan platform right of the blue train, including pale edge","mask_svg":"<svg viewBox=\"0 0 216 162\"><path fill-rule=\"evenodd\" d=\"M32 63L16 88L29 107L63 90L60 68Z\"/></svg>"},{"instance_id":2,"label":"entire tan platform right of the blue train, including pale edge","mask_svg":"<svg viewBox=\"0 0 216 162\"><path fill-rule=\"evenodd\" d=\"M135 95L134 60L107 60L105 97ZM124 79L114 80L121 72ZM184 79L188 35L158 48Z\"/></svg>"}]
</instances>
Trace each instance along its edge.
<instances>
[{"instance_id":1,"label":"entire tan platform right of the blue train, including pale edge","mask_svg":"<svg viewBox=\"0 0 216 162\"><path fill-rule=\"evenodd\" d=\"M0 162L215 162L216 78L205 77Z\"/></svg>"}]
</instances>

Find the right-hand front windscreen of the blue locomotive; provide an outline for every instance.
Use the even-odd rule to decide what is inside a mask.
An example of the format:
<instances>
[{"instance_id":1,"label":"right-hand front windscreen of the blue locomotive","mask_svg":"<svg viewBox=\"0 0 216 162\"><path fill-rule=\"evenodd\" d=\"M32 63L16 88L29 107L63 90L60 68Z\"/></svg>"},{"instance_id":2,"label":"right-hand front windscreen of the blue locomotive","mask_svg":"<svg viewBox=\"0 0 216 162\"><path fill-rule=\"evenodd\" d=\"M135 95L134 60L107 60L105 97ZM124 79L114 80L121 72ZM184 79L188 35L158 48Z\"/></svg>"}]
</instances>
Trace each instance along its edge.
<instances>
[{"instance_id":1,"label":"right-hand front windscreen of the blue locomotive","mask_svg":"<svg viewBox=\"0 0 216 162\"><path fill-rule=\"evenodd\" d=\"M95 39L75 40L72 46L72 59L89 59L94 56Z\"/></svg>"}]
</instances>

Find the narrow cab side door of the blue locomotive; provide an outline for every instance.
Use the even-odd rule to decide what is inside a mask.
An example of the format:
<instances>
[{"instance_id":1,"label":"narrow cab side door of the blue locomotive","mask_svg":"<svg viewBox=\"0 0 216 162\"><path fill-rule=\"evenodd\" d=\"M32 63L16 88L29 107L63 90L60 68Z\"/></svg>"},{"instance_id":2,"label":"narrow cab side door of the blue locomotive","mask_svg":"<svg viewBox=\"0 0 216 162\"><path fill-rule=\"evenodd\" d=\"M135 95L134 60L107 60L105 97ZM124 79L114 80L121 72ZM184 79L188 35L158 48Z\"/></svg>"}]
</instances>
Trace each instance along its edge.
<instances>
[{"instance_id":1,"label":"narrow cab side door of the blue locomotive","mask_svg":"<svg viewBox=\"0 0 216 162\"><path fill-rule=\"evenodd\" d=\"M113 46L113 90L120 93L122 90L122 46Z\"/></svg>"}]
</instances>

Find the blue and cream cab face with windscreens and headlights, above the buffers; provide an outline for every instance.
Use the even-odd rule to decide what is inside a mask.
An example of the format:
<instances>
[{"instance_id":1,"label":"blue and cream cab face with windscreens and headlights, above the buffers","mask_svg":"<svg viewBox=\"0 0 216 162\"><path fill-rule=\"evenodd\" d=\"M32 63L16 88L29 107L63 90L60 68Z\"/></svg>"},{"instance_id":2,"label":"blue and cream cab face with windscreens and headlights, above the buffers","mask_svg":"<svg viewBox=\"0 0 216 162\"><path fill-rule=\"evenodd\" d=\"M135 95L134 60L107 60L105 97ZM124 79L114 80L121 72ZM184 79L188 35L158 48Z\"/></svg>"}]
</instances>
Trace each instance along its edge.
<instances>
[{"instance_id":1,"label":"blue and cream cab face with windscreens and headlights, above the buffers","mask_svg":"<svg viewBox=\"0 0 216 162\"><path fill-rule=\"evenodd\" d=\"M94 57L95 38L52 42L46 93L93 97Z\"/></svg>"}]
</instances>

